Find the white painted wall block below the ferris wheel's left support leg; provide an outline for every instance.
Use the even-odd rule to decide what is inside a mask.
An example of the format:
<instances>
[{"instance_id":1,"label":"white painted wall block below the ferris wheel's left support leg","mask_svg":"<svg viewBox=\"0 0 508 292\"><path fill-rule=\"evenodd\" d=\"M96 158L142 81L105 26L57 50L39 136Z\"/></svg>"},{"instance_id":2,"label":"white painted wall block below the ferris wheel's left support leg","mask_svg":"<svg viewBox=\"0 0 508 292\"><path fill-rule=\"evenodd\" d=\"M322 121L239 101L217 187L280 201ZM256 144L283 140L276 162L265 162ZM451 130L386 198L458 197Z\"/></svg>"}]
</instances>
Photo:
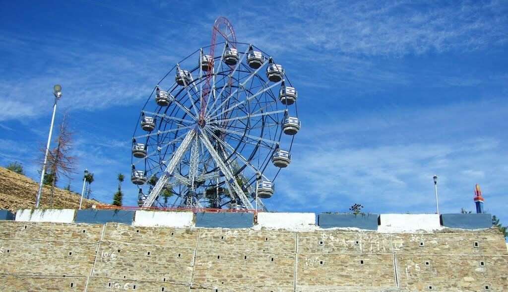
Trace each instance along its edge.
<instances>
[{"instance_id":1,"label":"white painted wall block below the ferris wheel's left support leg","mask_svg":"<svg viewBox=\"0 0 508 292\"><path fill-rule=\"evenodd\" d=\"M134 226L191 227L193 212L136 211Z\"/></svg>"}]
</instances>

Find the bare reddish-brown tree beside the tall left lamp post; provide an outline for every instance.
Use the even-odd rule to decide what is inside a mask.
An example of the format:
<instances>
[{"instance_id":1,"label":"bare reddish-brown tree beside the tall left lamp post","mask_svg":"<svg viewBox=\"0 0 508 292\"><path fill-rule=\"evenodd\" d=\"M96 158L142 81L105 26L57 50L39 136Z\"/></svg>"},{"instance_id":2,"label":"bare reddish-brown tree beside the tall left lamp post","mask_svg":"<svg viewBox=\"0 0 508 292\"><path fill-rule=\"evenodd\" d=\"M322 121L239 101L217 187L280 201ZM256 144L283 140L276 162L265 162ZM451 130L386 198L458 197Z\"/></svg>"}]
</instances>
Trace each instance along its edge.
<instances>
[{"instance_id":1,"label":"bare reddish-brown tree beside the tall left lamp post","mask_svg":"<svg viewBox=\"0 0 508 292\"><path fill-rule=\"evenodd\" d=\"M76 158L71 156L73 133L68 128L67 112L63 113L63 119L60 124L60 131L56 137L56 147L49 151L48 156L48 175L51 176L51 195L49 205L53 206L53 196L56 181L60 177L70 179L76 165Z\"/></svg>"}]
</instances>

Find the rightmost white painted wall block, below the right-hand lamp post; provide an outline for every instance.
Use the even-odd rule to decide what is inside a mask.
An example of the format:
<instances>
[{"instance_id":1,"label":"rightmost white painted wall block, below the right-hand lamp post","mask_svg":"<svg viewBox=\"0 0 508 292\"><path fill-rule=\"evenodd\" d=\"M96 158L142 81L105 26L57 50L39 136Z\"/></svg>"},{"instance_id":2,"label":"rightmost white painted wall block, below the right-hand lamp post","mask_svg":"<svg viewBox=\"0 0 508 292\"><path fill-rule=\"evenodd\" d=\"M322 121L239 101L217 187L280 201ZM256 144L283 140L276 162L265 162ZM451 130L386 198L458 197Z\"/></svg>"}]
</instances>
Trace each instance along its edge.
<instances>
[{"instance_id":1,"label":"rightmost white painted wall block, below the right-hand lamp post","mask_svg":"<svg viewBox=\"0 0 508 292\"><path fill-rule=\"evenodd\" d=\"M381 214L378 232L404 233L443 229L437 214Z\"/></svg>"}]
</instances>

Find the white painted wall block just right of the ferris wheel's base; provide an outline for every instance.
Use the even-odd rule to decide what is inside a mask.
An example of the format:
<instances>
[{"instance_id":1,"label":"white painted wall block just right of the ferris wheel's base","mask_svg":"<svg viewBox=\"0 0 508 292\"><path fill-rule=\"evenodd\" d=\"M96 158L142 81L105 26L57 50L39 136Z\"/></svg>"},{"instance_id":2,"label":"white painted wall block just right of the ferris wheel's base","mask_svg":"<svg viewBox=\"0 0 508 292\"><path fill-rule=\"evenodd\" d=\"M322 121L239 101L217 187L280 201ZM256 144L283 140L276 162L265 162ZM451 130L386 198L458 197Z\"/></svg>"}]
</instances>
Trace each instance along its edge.
<instances>
[{"instance_id":1,"label":"white painted wall block just right of the ferris wheel's base","mask_svg":"<svg viewBox=\"0 0 508 292\"><path fill-rule=\"evenodd\" d=\"M314 213L258 213L258 224L255 229L286 229L307 231L316 229Z\"/></svg>"}]
</instances>

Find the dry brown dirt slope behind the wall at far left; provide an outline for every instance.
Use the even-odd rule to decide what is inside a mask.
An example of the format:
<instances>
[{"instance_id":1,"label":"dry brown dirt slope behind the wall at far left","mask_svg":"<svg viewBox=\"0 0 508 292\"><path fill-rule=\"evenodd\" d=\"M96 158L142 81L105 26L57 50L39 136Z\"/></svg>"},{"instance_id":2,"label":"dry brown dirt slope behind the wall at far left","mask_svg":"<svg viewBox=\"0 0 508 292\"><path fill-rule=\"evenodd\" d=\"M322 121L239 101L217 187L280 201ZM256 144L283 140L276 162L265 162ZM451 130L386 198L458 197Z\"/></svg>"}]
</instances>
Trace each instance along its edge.
<instances>
[{"instance_id":1,"label":"dry brown dirt slope behind the wall at far left","mask_svg":"<svg viewBox=\"0 0 508 292\"><path fill-rule=\"evenodd\" d=\"M9 209L14 212L18 209L33 209L39 184L30 178L14 171L0 167L0 209ZM78 209L80 195L67 190L55 188L53 207L49 205L50 187L43 186L41 208ZM83 198L82 208L91 208L97 201Z\"/></svg>"}]
</instances>

